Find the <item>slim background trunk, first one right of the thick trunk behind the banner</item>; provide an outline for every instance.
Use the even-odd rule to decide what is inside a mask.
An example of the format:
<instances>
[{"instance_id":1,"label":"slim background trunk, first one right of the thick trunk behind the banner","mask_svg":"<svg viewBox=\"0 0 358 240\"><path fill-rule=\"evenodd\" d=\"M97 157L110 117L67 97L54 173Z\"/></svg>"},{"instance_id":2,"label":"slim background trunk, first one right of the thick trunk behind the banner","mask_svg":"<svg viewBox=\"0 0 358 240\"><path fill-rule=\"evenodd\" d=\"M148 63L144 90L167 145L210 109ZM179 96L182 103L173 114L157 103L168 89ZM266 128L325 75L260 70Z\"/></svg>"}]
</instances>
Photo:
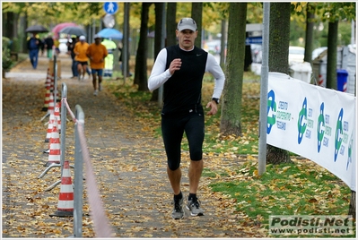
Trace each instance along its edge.
<instances>
[{"instance_id":1,"label":"slim background trunk, first one right of the thick trunk behind the banner","mask_svg":"<svg viewBox=\"0 0 358 240\"><path fill-rule=\"evenodd\" d=\"M314 14L315 8L312 4L307 4L307 17L306 17L306 41L304 46L304 62L312 62L313 51L313 27L314 27Z\"/></svg>"}]
</instances>

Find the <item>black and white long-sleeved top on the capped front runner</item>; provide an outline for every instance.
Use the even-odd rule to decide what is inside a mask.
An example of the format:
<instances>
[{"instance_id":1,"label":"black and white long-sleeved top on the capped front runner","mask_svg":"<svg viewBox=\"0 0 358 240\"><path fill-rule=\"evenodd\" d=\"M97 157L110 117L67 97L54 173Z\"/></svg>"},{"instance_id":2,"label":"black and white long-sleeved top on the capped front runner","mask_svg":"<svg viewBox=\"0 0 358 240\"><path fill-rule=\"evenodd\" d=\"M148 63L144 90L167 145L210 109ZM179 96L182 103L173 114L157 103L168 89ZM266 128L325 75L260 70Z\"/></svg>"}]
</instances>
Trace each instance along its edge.
<instances>
[{"instance_id":1,"label":"black and white long-sleeved top on the capped front runner","mask_svg":"<svg viewBox=\"0 0 358 240\"><path fill-rule=\"evenodd\" d=\"M170 62L175 58L181 59L181 66L170 75ZM193 107L201 106L201 88L205 72L214 75L212 97L220 99L225 75L213 55L198 47L190 51L181 49L178 45L162 49L148 80L149 90L164 85L162 114L185 113Z\"/></svg>"}]
</instances>

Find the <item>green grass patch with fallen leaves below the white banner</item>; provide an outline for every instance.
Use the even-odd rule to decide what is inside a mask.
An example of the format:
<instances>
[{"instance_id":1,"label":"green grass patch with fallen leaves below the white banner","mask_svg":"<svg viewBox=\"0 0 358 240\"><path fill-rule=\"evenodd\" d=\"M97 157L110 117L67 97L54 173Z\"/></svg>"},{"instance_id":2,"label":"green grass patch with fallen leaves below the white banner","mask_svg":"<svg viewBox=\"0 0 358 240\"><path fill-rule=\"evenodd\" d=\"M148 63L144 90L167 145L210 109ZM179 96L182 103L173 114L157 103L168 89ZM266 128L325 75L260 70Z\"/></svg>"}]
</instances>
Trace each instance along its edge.
<instances>
[{"instance_id":1,"label":"green grass patch with fallen leaves below the white banner","mask_svg":"<svg viewBox=\"0 0 358 240\"><path fill-rule=\"evenodd\" d=\"M238 211L250 219L258 219L266 228L270 215L346 215L348 212L350 189L309 160L269 164L261 177L257 176L257 169L256 161L247 161L242 167L232 169L237 180L221 173L222 180L210 186L214 192L235 199ZM203 176L216 177L216 174L205 169Z\"/></svg>"}]
</instances>

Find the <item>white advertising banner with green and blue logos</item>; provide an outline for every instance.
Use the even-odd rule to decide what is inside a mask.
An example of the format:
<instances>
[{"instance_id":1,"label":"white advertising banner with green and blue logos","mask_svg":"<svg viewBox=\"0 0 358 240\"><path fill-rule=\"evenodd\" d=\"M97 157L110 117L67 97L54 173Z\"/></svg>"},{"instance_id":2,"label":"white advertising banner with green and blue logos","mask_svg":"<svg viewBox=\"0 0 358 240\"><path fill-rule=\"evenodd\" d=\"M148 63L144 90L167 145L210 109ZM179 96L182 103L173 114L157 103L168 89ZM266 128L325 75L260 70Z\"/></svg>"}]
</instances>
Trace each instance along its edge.
<instances>
[{"instance_id":1,"label":"white advertising banner with green and blue logos","mask_svg":"<svg viewBox=\"0 0 358 240\"><path fill-rule=\"evenodd\" d=\"M356 99L268 74L267 144L310 159L356 190Z\"/></svg>"}]
</instances>

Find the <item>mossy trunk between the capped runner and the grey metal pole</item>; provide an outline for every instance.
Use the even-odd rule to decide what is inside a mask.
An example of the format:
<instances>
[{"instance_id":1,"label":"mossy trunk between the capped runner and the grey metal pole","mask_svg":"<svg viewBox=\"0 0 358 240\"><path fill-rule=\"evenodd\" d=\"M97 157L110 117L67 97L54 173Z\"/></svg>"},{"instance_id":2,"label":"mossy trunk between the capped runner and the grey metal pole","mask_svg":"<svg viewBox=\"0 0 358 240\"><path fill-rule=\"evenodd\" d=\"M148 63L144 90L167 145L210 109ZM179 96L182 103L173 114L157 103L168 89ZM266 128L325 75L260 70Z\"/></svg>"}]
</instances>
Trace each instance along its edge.
<instances>
[{"instance_id":1,"label":"mossy trunk between the capped runner and the grey metal pole","mask_svg":"<svg viewBox=\"0 0 358 240\"><path fill-rule=\"evenodd\" d=\"M229 6L228 56L220 132L241 135L241 97L245 60L246 3Z\"/></svg>"}]
</instances>

